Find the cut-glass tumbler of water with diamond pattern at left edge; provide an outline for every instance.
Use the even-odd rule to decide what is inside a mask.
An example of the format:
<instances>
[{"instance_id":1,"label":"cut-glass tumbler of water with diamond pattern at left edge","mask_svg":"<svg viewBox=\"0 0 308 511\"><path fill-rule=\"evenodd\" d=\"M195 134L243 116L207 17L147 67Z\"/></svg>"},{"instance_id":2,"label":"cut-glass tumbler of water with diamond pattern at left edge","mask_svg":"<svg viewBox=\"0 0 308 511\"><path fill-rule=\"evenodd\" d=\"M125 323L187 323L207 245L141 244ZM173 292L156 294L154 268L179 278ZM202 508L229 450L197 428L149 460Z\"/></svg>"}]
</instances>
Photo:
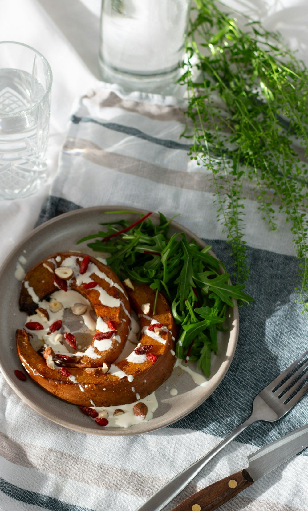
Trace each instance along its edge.
<instances>
[{"instance_id":1,"label":"cut-glass tumbler of water with diamond pattern at left edge","mask_svg":"<svg viewBox=\"0 0 308 511\"><path fill-rule=\"evenodd\" d=\"M47 177L52 72L36 50L0 42L0 198L27 197Z\"/></svg>"}]
</instances>

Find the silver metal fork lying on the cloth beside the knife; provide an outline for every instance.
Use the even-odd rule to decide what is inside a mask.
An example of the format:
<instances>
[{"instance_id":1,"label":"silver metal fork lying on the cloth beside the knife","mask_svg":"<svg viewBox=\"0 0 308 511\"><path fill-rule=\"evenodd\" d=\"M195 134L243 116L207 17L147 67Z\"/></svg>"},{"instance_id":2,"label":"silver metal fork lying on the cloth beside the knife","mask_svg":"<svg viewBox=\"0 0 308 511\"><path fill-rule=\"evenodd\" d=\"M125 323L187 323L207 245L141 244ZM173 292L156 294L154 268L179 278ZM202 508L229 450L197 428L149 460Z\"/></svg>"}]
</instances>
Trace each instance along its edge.
<instances>
[{"instance_id":1,"label":"silver metal fork lying on the cloth beside the knife","mask_svg":"<svg viewBox=\"0 0 308 511\"><path fill-rule=\"evenodd\" d=\"M167 484L162 486L160 490L154 493L154 495L138 507L136 511L160 511L160 509L174 499L174 497L178 495L178 493L180 493L184 487L192 481L192 479L194 479L206 463L214 458L216 454L232 442L232 440L248 428L248 426L257 421L277 421L280 417L283 417L283 415L291 410L291 408L293 408L293 406L308 390L308 382L300 390L298 390L302 383L308 378L308 371L297 380L302 371L307 367L308 360L302 363L302 365L286 382L282 382L293 371L293 369L295 369L296 366L303 361L307 354L308 350L295 360L290 367L283 371L281 375L275 378L275 380L257 394L253 400L252 413L247 421L236 428L229 436L222 440L220 444L205 454L205 456L195 461L195 463L184 469L180 472L180 474L176 475ZM296 392L295 396L288 401L294 392Z\"/></svg>"}]
</instances>

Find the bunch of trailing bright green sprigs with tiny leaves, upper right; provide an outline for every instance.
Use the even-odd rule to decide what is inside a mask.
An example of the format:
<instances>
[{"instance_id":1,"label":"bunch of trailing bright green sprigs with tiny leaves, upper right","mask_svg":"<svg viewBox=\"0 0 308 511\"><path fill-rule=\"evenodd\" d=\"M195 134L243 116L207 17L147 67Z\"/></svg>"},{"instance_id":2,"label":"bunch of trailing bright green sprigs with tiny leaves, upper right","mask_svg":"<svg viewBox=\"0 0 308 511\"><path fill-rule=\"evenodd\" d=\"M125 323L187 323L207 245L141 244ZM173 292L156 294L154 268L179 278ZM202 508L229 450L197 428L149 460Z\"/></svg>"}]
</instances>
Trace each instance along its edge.
<instances>
[{"instance_id":1,"label":"bunch of trailing bright green sprigs with tiny leaves, upper right","mask_svg":"<svg viewBox=\"0 0 308 511\"><path fill-rule=\"evenodd\" d=\"M299 261L299 300L308 311L308 71L282 43L246 16L246 30L214 0L196 0L183 63L188 108L184 136L211 173L218 218L245 282L245 180L264 221L286 215ZM196 62L197 59L197 62ZM196 73L197 69L197 73ZM192 132L190 131L192 129Z\"/></svg>"}]
</instances>

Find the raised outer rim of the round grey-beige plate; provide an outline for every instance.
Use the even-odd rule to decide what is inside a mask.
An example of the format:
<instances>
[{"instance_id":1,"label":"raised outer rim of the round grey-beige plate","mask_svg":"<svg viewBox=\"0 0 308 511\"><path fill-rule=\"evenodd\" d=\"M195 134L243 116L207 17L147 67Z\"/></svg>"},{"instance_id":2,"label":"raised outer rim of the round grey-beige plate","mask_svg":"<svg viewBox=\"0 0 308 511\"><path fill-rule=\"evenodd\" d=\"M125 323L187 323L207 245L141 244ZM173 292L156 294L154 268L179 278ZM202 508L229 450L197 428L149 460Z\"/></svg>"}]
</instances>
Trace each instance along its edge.
<instances>
[{"instance_id":1,"label":"raised outer rim of the round grey-beige plate","mask_svg":"<svg viewBox=\"0 0 308 511\"><path fill-rule=\"evenodd\" d=\"M79 208L76 208L76 210L72 210L72 211L57 215L56 217L51 218L50 220L47 220L46 222L43 222L41 225L38 225L37 227L32 229L26 236L24 236L20 240L19 243L17 243L17 245L15 245L13 247L13 249L10 251L10 253L6 257L5 261L3 262L3 264L0 268L0 280L1 280L2 275L6 269L6 266L10 263L10 261L14 257L14 255L16 253L18 253L20 248L25 243L27 243L29 240L31 240L31 238L33 236L36 236L40 232L40 230L45 230L46 228L48 229L49 226L57 223L59 220L62 220L63 218L69 218L71 216L75 217L78 215L95 213L95 212L104 214L104 213L106 213L106 211L119 211L119 210L131 211L131 212L136 212L136 213L140 213L140 214L143 213L144 215L146 215L148 213L148 210L144 210L143 208L138 208L138 207L133 207L133 206L125 206L122 204L122 205L104 205L104 206L101 205L101 206L79 207ZM155 215L155 217L159 217L158 213L156 213L156 212L152 212L152 214ZM184 234L188 235L188 237L190 237L190 238L193 237L196 240L197 244L200 244L201 246L207 246L207 244L202 239L200 239L198 236L196 236L191 230L187 229L184 225L176 222L175 220L172 220L171 225L174 226L179 231L182 231ZM211 249L208 251L208 253L210 253L216 259L218 259L216 254ZM212 385L210 387L210 393L208 393L206 398L204 398L204 399L200 398L199 400L197 400L197 402L195 401L191 406L188 406L188 408L186 408L185 412L180 413L172 420L170 420L170 418L166 418L164 420L160 420L159 424L156 424L156 425L153 424L151 426L151 422L153 421L153 419L151 419L150 421L144 423L143 428L139 428L137 430L136 429L134 430L131 428L121 428L121 429L119 428L118 430L111 430L109 428L91 429L91 428L87 428L85 426L76 426L75 424L68 422L64 419L59 419L59 417L57 417L53 413L50 413L50 412L46 411L44 408L41 408L41 406L33 403L26 396L26 394L24 394L20 390L20 388L17 386L17 384L15 383L13 378L11 378L9 373L6 371L5 364L3 363L2 357L0 355L1 373L3 374L6 382L9 384L9 386L17 394L17 396L20 399L22 399L28 406L30 406L36 412L40 413L42 416L46 417L46 419L49 419L50 421L52 421L62 427L65 427L67 429L71 429L71 430L78 431L81 433L87 433L87 434L93 434L93 435L103 435L103 436L130 436L130 435L135 435L135 434L143 434L143 433L148 433L151 431L156 431L156 430L164 428L166 426L170 426L171 424L174 424L175 422L183 419L183 417L185 417L189 413L192 413L192 411L194 411L196 408L198 408L202 403L204 403L211 396L211 394L216 390L218 385L222 382L222 380L226 376L227 371L228 371L228 369L231 365L231 362L233 360L234 353L236 350L236 345L238 343L238 337L239 337L239 309L238 309L237 301L234 300L233 298L232 298L232 301L233 301L233 325L234 325L234 327L232 329L233 335L230 335L230 339L232 337L232 343L230 344L230 339L229 339L228 345L227 345L227 351L226 351L226 355L227 355L226 360L224 360L221 363L221 365L215 375L215 376L217 376L217 375L219 375L219 376L217 376L215 378L215 380L212 382ZM230 352L228 352L228 349L230 349ZM30 380L31 380L31 378L30 378ZM166 380L166 381L168 381L168 380ZM32 382L32 383L34 385L36 385L35 382ZM51 393L49 393L49 394L52 395ZM55 397L55 399L57 399L57 398ZM158 419L158 417L157 417L157 419ZM155 421L155 419L154 419L154 421Z\"/></svg>"}]
</instances>

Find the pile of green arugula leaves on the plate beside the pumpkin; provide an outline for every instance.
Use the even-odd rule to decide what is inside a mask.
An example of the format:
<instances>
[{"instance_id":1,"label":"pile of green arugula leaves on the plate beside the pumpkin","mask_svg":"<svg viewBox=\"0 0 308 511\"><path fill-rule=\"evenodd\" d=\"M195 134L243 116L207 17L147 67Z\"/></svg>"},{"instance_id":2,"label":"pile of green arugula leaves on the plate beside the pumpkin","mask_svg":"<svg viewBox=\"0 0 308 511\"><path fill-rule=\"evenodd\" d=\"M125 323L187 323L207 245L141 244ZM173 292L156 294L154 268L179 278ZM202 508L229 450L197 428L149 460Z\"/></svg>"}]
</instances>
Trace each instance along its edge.
<instances>
[{"instance_id":1,"label":"pile of green arugula leaves on the plate beside the pumpkin","mask_svg":"<svg viewBox=\"0 0 308 511\"><path fill-rule=\"evenodd\" d=\"M211 246L201 248L184 233L169 236L170 222L159 213L159 224L131 211L110 211L106 214L133 213L136 222L119 219L104 222L107 231L99 231L78 241L96 241L88 246L107 252L107 264L122 279L131 278L161 292L172 304L172 313L180 325L176 355L186 361L198 360L199 369L210 376L211 352L218 354L217 333L226 330L223 323L232 298L249 304L253 298L244 293L244 284L231 286L230 275L223 263L208 253ZM98 239L100 238L100 239ZM221 268L224 272L221 273Z\"/></svg>"}]
</instances>

